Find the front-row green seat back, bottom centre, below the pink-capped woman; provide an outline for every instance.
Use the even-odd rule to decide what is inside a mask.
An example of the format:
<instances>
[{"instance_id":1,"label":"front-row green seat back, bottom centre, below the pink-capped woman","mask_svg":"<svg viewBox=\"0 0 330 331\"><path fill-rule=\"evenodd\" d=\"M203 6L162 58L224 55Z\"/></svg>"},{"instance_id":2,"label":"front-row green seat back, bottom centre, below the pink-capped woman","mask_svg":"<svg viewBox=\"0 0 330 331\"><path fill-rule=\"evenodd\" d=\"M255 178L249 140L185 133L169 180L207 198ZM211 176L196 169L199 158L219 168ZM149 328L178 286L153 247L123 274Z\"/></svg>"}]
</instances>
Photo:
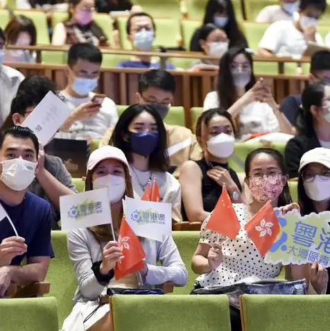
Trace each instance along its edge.
<instances>
[{"instance_id":1,"label":"front-row green seat back, bottom centre, below the pink-capped woman","mask_svg":"<svg viewBox=\"0 0 330 331\"><path fill-rule=\"evenodd\" d=\"M129 316L129 317L128 317ZM112 297L114 331L230 331L227 296Z\"/></svg>"}]
</instances>

